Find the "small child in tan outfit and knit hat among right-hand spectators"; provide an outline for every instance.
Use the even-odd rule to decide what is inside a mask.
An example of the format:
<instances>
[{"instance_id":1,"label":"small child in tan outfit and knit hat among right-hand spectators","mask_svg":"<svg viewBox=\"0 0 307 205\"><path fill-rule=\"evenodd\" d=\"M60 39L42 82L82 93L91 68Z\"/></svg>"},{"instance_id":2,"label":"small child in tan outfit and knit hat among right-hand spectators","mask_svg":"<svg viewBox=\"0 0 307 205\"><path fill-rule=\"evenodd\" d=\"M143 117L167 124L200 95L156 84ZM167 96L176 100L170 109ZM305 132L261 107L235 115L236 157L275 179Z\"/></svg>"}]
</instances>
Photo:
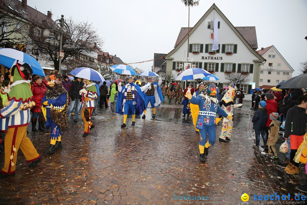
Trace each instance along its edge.
<instances>
[{"instance_id":1,"label":"small child in tan outfit and knit hat among right-hand spectators","mask_svg":"<svg viewBox=\"0 0 307 205\"><path fill-rule=\"evenodd\" d=\"M277 152L275 150L275 144L278 140L278 133L279 133L279 125L281 121L278 121L279 114L277 112L272 112L270 114L270 119L272 120L270 127L269 127L269 137L268 137L268 147L269 147L269 154L266 156L270 157L271 159L278 159Z\"/></svg>"}]
</instances>

